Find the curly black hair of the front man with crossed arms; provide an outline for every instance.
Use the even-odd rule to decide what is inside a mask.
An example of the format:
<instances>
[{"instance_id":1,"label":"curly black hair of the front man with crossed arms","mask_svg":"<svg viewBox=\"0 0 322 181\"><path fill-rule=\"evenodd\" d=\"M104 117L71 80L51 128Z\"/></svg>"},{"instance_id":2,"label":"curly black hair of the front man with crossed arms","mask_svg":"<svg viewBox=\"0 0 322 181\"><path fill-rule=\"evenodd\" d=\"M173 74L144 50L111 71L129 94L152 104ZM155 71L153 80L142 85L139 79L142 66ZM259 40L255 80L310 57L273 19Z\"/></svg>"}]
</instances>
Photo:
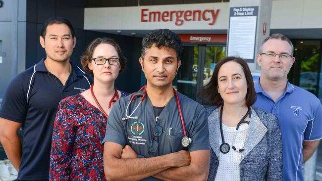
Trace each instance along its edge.
<instances>
[{"instance_id":1,"label":"curly black hair of the front man with crossed arms","mask_svg":"<svg viewBox=\"0 0 322 181\"><path fill-rule=\"evenodd\" d=\"M158 48L172 48L177 53L178 61L181 58L183 46L179 36L169 29L159 29L149 32L142 40L141 58L144 59L145 52L148 48L155 45Z\"/></svg>"}]
</instances>

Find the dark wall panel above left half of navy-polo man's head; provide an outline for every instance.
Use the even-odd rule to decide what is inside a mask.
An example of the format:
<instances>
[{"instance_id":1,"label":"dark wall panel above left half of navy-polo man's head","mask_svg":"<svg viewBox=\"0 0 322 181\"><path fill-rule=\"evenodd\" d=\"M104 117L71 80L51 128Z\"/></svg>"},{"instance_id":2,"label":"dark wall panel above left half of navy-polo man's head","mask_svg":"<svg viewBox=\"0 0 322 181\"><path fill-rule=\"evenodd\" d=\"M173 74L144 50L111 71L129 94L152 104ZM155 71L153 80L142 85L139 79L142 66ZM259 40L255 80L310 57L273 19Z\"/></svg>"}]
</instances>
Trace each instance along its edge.
<instances>
[{"instance_id":1,"label":"dark wall panel above left half of navy-polo man's head","mask_svg":"<svg viewBox=\"0 0 322 181\"><path fill-rule=\"evenodd\" d=\"M37 1L37 23L43 24L48 18L56 15L55 0Z\"/></svg>"}]
</instances>

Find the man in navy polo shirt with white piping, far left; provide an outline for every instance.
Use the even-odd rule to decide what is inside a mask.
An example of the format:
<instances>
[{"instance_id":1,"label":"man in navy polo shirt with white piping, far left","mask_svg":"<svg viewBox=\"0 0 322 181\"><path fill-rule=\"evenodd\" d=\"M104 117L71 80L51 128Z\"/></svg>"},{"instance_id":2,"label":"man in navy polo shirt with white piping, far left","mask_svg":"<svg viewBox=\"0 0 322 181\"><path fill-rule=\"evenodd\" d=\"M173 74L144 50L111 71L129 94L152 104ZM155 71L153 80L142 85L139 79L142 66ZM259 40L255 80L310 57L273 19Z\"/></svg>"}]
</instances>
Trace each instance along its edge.
<instances>
[{"instance_id":1,"label":"man in navy polo shirt with white piping, far left","mask_svg":"<svg viewBox=\"0 0 322 181\"><path fill-rule=\"evenodd\" d=\"M0 141L18 180L48 180L54 118L66 96L90 88L92 78L69 58L76 38L71 23L48 19L40 44L46 58L18 74L9 84L0 108ZM22 129L22 144L17 131Z\"/></svg>"}]
</instances>

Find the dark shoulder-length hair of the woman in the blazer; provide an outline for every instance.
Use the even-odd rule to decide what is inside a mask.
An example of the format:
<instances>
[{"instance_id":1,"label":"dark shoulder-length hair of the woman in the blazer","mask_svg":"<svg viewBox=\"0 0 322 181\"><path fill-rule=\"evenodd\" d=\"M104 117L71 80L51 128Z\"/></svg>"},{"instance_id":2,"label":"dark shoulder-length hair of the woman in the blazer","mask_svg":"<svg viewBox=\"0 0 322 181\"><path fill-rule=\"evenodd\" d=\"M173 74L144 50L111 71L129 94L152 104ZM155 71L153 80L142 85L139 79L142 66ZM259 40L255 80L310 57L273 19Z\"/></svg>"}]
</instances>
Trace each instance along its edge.
<instances>
[{"instance_id":1,"label":"dark shoulder-length hair of the woman in the blazer","mask_svg":"<svg viewBox=\"0 0 322 181\"><path fill-rule=\"evenodd\" d=\"M216 105L216 106L219 106L220 104L222 104L223 99L218 93L218 73L221 66L230 61L238 63L243 68L246 81L247 81L247 86L248 86L246 98L245 98L246 99L245 104L247 106L251 106L256 101L256 92L254 89L254 81L253 81L252 73L245 60L234 56L225 57L216 64L212 78L210 79L209 83L206 86L200 89L198 96L202 98L204 102L207 104Z\"/></svg>"}]
</instances>

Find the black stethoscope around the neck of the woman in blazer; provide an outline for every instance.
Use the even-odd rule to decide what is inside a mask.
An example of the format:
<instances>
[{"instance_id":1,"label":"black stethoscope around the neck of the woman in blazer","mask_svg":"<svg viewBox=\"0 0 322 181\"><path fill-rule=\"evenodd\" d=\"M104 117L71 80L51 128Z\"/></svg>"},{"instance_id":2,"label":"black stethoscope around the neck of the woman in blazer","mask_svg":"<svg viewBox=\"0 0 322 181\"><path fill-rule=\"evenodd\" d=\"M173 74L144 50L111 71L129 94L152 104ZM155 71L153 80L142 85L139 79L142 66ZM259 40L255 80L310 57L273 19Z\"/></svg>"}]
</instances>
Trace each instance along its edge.
<instances>
[{"instance_id":1,"label":"black stethoscope around the neck of the woman in blazer","mask_svg":"<svg viewBox=\"0 0 322 181\"><path fill-rule=\"evenodd\" d=\"M223 137L223 132L222 132L222 110L223 110L223 103L221 105L221 108L220 108L220 114L219 114L219 126L220 126L220 134L221 134L221 141L222 143L220 144L220 152L223 153L223 154L226 154L229 152L230 150L230 146L228 143L225 142L225 139ZM247 113L245 114L245 116L239 121L239 123L237 124L237 127L236 127L236 131L235 131L235 135L233 137L233 140L232 140L232 149L234 151L237 151L237 152L243 152L244 151L244 148L241 148L239 150L236 149L236 147L234 146L235 145L235 138L236 138L236 135L237 135L237 131L239 129L239 126L242 124L242 123L246 123L249 125L249 121L245 121L245 118L249 115L249 118L251 118L251 115L252 115L252 111L251 111L251 108L248 107L248 111Z\"/></svg>"}]
</instances>

